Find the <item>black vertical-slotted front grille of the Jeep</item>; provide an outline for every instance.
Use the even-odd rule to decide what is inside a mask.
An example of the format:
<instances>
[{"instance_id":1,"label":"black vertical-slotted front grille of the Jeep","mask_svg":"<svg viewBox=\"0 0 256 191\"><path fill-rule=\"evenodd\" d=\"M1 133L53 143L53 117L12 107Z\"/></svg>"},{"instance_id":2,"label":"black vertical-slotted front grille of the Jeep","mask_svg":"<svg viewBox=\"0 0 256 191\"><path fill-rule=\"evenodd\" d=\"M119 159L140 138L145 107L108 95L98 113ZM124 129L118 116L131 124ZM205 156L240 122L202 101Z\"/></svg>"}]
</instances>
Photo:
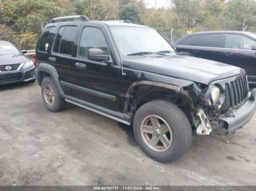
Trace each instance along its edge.
<instances>
[{"instance_id":1,"label":"black vertical-slotted front grille of the Jeep","mask_svg":"<svg viewBox=\"0 0 256 191\"><path fill-rule=\"evenodd\" d=\"M232 82L225 83L226 107L234 109L246 101L248 95L248 82L246 75L237 77Z\"/></svg>"}]
</instances>

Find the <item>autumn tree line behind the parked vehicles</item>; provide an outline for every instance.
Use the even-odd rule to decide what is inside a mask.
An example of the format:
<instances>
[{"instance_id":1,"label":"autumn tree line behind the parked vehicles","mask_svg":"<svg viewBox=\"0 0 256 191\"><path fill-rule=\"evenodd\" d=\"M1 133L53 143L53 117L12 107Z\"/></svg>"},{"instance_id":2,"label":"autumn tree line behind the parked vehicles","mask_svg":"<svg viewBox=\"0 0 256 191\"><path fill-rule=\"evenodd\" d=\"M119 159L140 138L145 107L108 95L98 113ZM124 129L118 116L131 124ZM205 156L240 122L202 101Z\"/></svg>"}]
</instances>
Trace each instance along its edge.
<instances>
[{"instance_id":1,"label":"autumn tree line behind the parked vehicles","mask_svg":"<svg viewBox=\"0 0 256 191\"><path fill-rule=\"evenodd\" d=\"M64 15L131 20L171 41L195 31L256 31L255 0L171 0L169 9L148 9L143 0L0 0L0 39L34 49L48 20Z\"/></svg>"}]
</instances>

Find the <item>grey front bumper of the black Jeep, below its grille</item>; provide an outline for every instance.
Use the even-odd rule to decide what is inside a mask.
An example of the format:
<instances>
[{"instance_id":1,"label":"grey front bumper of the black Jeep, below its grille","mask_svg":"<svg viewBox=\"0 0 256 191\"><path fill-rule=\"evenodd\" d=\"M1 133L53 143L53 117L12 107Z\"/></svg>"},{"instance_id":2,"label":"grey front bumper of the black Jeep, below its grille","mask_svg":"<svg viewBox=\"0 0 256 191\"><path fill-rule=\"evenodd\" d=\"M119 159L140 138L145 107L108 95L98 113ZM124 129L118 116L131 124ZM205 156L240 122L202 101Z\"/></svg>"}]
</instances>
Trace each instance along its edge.
<instances>
[{"instance_id":1,"label":"grey front bumper of the black Jeep, below its grille","mask_svg":"<svg viewBox=\"0 0 256 191\"><path fill-rule=\"evenodd\" d=\"M239 128L243 128L247 122L252 120L255 114L256 101L255 98L249 98L243 106L228 114L219 117L219 123L227 125L227 132L234 133ZM225 125L225 126L226 126Z\"/></svg>"}]
</instances>

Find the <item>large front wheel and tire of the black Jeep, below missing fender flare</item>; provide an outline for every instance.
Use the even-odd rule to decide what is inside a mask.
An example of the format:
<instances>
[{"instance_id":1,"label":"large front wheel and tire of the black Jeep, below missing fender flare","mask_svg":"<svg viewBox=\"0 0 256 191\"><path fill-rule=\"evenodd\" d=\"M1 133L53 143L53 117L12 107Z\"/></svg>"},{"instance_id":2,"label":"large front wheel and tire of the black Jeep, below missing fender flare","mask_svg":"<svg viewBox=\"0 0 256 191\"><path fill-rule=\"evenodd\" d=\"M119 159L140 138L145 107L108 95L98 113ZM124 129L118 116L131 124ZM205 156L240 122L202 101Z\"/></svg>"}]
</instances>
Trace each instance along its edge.
<instances>
[{"instance_id":1,"label":"large front wheel and tire of the black Jeep, below missing fender flare","mask_svg":"<svg viewBox=\"0 0 256 191\"><path fill-rule=\"evenodd\" d=\"M154 117L157 118L157 122ZM160 125L160 128L156 130L156 125L153 125L152 121L155 121L154 124L158 124L157 126ZM170 132L165 134L167 130ZM192 143L192 128L186 114L168 101L151 101L141 106L135 113L133 132L143 152L162 163L177 160L188 151ZM158 142L152 141L153 137L154 140L159 139ZM157 145L154 147L156 142Z\"/></svg>"}]
</instances>

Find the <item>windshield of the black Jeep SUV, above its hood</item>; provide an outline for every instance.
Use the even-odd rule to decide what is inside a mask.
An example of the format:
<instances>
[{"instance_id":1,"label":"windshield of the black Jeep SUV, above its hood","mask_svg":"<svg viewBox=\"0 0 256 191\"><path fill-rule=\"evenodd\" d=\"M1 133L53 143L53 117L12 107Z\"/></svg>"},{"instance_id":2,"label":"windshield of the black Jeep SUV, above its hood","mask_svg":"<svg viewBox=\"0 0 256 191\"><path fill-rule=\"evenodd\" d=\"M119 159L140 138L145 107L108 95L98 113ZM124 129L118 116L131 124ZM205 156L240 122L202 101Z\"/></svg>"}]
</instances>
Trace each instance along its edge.
<instances>
[{"instance_id":1,"label":"windshield of the black Jeep SUV, above its hood","mask_svg":"<svg viewBox=\"0 0 256 191\"><path fill-rule=\"evenodd\" d=\"M123 55L138 52L173 52L170 44L151 28L110 27L118 50Z\"/></svg>"}]
</instances>

